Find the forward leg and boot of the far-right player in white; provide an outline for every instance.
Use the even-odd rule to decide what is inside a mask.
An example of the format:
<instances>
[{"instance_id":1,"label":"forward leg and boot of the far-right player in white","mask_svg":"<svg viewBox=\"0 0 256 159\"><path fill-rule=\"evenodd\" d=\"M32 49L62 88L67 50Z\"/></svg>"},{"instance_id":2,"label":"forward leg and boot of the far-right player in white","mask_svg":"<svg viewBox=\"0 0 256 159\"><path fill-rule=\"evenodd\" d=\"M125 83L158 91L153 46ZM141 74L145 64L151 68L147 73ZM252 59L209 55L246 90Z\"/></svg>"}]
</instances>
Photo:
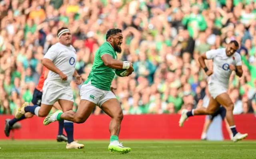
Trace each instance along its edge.
<instances>
[{"instance_id":1,"label":"forward leg and boot of the far-right player in white","mask_svg":"<svg viewBox=\"0 0 256 159\"><path fill-rule=\"evenodd\" d=\"M246 138L248 136L247 133L241 134L236 131L236 125L234 122L234 115L233 115L234 103L230 99L228 93L222 93L218 95L216 97L216 100L218 101L218 103L220 103L222 106L226 108L226 119L233 133L232 140L236 142Z\"/></svg>"}]
</instances>

